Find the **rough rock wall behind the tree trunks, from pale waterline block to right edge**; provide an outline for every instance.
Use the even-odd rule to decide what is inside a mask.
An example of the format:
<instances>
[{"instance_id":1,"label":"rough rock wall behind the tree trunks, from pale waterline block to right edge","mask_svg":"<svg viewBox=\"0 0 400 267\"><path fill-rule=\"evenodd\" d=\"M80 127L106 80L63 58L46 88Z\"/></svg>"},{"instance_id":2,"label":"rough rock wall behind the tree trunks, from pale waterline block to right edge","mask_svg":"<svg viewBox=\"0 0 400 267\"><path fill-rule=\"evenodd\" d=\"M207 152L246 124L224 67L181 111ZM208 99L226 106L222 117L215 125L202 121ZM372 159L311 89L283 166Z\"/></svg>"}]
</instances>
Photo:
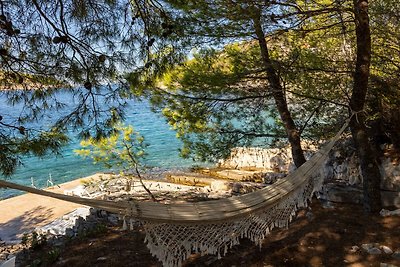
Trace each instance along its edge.
<instances>
[{"instance_id":1,"label":"rough rock wall behind the tree trunks, from pale waterline block to right edge","mask_svg":"<svg viewBox=\"0 0 400 267\"><path fill-rule=\"evenodd\" d=\"M323 192L321 192L322 198L338 202L362 201L362 176L358 157L352 147L351 139L346 139L338 142L330 152L320 173L325 181ZM308 146L306 154L311 155L315 150L314 147ZM386 145L383 151L380 158L382 200L385 205L400 206L400 161L393 155L391 146ZM218 166L233 169L258 169L265 176L274 177L294 169L288 147L279 149L238 147L231 151L227 159L221 160Z\"/></svg>"}]
</instances>

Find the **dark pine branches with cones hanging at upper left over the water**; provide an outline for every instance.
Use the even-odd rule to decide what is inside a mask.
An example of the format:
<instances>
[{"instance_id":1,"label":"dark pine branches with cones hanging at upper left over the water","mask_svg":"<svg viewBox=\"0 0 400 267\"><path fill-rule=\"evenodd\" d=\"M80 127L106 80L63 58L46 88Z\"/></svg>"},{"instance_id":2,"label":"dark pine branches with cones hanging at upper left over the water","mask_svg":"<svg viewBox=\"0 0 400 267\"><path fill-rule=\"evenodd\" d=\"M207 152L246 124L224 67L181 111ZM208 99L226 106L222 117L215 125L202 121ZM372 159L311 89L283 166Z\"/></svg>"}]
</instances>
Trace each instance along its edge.
<instances>
[{"instance_id":1,"label":"dark pine branches with cones hanging at upper left over the water","mask_svg":"<svg viewBox=\"0 0 400 267\"><path fill-rule=\"evenodd\" d=\"M171 18L152 1L1 1L0 89L10 104L24 107L15 117L0 114L0 122L7 121L0 123L1 172L15 172L28 150L39 156L58 151L39 131L109 136L132 97L125 73L147 70L147 61L163 69L175 57L168 49L179 42ZM72 99L61 101L60 91ZM45 112L60 110L54 125L38 123ZM31 134L20 138L19 127Z\"/></svg>"}]
</instances>

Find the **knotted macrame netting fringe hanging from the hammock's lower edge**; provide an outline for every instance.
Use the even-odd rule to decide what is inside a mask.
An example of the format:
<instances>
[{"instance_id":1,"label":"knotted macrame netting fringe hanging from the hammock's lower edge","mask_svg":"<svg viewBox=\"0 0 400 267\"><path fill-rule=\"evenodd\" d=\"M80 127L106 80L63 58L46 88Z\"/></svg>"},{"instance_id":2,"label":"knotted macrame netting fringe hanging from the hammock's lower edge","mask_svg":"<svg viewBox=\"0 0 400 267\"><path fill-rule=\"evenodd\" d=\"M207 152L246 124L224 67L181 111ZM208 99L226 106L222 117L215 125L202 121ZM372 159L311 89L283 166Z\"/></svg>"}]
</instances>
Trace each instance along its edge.
<instances>
[{"instance_id":1,"label":"knotted macrame netting fringe hanging from the hammock's lower edge","mask_svg":"<svg viewBox=\"0 0 400 267\"><path fill-rule=\"evenodd\" d=\"M316 182L310 179L275 204L234 219L196 224L144 221L147 246L165 266L180 266L192 253L221 258L243 237L261 245L274 227L287 227L296 209L307 205Z\"/></svg>"}]
</instances>

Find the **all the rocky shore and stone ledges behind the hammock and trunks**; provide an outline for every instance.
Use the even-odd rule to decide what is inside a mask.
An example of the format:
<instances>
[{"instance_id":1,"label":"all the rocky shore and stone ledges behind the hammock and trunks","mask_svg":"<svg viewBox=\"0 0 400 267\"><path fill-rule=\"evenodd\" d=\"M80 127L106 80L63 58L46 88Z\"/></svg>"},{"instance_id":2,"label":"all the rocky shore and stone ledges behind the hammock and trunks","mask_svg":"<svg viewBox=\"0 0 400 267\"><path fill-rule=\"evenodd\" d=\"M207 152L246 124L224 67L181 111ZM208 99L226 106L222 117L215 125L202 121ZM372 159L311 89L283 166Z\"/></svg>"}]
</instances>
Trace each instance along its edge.
<instances>
[{"instance_id":1,"label":"all the rocky shore and stone ledges behind the hammock and trunks","mask_svg":"<svg viewBox=\"0 0 400 267\"><path fill-rule=\"evenodd\" d=\"M343 141L331 152L320 172L325 185L319 197L328 203L325 204L328 208L331 207L329 204L331 202L360 203L362 201L362 179L358 169L358 159L353 151L341 149L346 147L346 142ZM311 154L313 150L314 148L309 148L308 154ZM381 185L383 202L386 206L400 208L400 165L394 157L391 157L390 147L387 147L385 151L381 159L381 172L384 177ZM64 194L112 201L131 199L151 201L150 195L143 187L145 186L157 201L163 203L207 201L252 192L274 183L292 170L288 148L236 148L232 150L230 157L220 161L216 168L169 173L162 181L144 180L142 184L137 178L97 174L79 182L71 182L74 184L73 187L57 190ZM12 199L7 201L12 201ZM43 205L46 206L46 204ZM382 215L388 214L396 215L390 211L382 213ZM9 219L12 220L12 218ZM74 207L49 223L39 224L24 236L32 237L34 233L39 237L43 236L47 240L57 242L56 240L60 237L74 238L104 223L129 227L129 223L128 225L123 223L123 218L115 214L89 207ZM6 225L1 221L0 224ZM2 260L10 259L11 255L24 248L18 240L11 243L6 243L4 240L0 242L2 242L0 263Z\"/></svg>"}]
</instances>

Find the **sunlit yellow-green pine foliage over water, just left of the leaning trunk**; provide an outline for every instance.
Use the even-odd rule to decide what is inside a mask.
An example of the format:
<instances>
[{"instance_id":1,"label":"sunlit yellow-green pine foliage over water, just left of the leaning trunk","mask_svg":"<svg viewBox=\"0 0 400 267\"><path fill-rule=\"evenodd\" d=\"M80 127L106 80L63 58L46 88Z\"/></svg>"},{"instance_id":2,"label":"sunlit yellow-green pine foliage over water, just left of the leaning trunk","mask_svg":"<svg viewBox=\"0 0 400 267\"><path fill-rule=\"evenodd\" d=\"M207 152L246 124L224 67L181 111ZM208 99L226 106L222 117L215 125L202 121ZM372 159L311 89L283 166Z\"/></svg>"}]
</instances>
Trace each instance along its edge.
<instances>
[{"instance_id":1,"label":"sunlit yellow-green pine foliage over water, just left of the leaning trunk","mask_svg":"<svg viewBox=\"0 0 400 267\"><path fill-rule=\"evenodd\" d=\"M183 141L181 155L216 161L230 148L281 136L252 43L201 50L158 80L152 103Z\"/></svg>"}]
</instances>

